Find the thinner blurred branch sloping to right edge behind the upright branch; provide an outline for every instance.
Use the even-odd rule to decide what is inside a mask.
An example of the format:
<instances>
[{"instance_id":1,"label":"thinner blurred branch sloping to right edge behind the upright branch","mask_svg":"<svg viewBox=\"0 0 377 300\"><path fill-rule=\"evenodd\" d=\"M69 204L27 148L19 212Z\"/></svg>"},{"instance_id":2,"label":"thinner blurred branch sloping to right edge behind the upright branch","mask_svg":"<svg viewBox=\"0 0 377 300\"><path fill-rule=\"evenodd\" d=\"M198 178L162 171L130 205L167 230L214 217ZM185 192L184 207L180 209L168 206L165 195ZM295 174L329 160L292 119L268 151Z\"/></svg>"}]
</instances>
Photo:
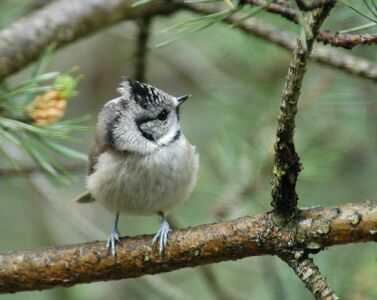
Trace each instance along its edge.
<instances>
[{"instance_id":1,"label":"thinner blurred branch sloping to right edge behind the upright branch","mask_svg":"<svg viewBox=\"0 0 377 300\"><path fill-rule=\"evenodd\" d=\"M220 10L215 6L186 4L185 8L202 14L214 14ZM235 16L228 17L225 22L237 25L236 28L247 34L259 37L286 50L293 51L296 47L296 36L290 32L282 31L272 24L256 18L239 22ZM377 80L377 64L351 54L340 52L337 49L329 49L324 46L315 46L310 56L316 62L335 69L343 70L349 74L362 78Z\"/></svg>"}]
</instances>

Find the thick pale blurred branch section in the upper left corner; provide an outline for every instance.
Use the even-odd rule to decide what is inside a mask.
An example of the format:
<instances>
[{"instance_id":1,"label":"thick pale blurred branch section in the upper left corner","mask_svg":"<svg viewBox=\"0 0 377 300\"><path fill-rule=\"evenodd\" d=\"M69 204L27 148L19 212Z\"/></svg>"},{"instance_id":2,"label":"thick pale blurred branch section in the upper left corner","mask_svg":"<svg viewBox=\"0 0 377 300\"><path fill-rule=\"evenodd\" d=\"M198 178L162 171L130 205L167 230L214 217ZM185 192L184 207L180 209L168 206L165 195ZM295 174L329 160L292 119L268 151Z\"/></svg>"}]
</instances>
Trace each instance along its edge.
<instances>
[{"instance_id":1,"label":"thick pale blurred branch section in the upper left corner","mask_svg":"<svg viewBox=\"0 0 377 300\"><path fill-rule=\"evenodd\" d=\"M122 20L173 13L163 0L132 7L132 0L58 0L0 31L0 79L34 61L50 43L58 47Z\"/></svg>"}]
</instances>

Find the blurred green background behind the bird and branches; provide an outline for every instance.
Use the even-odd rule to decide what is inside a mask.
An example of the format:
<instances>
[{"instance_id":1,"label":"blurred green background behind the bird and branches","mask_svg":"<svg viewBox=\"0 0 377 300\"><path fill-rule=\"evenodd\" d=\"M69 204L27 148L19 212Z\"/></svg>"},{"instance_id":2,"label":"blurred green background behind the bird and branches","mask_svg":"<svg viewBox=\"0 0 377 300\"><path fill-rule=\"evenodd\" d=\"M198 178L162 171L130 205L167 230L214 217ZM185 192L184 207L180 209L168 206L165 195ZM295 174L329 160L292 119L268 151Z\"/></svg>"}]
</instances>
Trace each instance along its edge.
<instances>
[{"instance_id":1,"label":"blurred green background behind the bird and branches","mask_svg":"<svg viewBox=\"0 0 377 300\"><path fill-rule=\"evenodd\" d=\"M28 3L29 2L29 3ZM41 2L41 1L40 1ZM23 15L35 1L2 1L1 26ZM215 24L163 47L174 34L161 29L194 18L179 13L152 23L147 82L172 95L191 93L182 109L185 135L201 158L198 185L174 213L179 226L195 226L270 209L273 143L281 91L290 53L236 28ZM296 27L260 13L286 30ZM346 29L365 23L337 7L323 28ZM296 29L297 31L297 29ZM104 103L117 96L122 75L133 77L137 27L124 22L57 51L48 70L79 66L85 79L69 102L66 117L91 114L94 126ZM339 50L340 53L348 52ZM377 61L375 46L353 54ZM20 82L31 68L13 76ZM304 170L298 180L301 206L337 205L376 199L377 97L375 82L311 63L297 116L296 146ZM94 131L76 134L77 150L87 153ZM1 141L3 143L3 141ZM71 145L70 145L71 146ZM11 151L15 149L9 148ZM28 158L19 154L28 163ZM7 167L0 160L1 166ZM74 162L70 162L74 163ZM78 162L79 163L79 162ZM107 238L113 216L98 204L77 205L85 170L57 187L40 174L0 177L0 251L33 249ZM122 235L154 233L158 218L121 217ZM342 299L376 299L376 246L334 247L315 256L322 273ZM275 257L253 257L211 265L223 289L213 293L199 268L69 289L2 295L2 299L311 299L293 271Z\"/></svg>"}]
</instances>

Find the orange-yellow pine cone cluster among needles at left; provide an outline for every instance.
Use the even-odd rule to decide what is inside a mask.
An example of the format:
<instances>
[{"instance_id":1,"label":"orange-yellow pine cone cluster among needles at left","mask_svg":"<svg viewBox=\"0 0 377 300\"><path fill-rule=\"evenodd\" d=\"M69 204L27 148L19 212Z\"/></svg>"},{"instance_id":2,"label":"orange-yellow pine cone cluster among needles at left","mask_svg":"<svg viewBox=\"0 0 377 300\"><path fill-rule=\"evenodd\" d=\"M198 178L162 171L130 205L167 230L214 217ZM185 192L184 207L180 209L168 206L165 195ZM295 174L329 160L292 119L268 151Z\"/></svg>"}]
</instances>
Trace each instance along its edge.
<instances>
[{"instance_id":1,"label":"orange-yellow pine cone cluster among needles at left","mask_svg":"<svg viewBox=\"0 0 377 300\"><path fill-rule=\"evenodd\" d=\"M59 121L66 111L67 100L57 90L51 90L35 97L28 108L29 117L33 123L40 125L52 124Z\"/></svg>"}]
</instances>

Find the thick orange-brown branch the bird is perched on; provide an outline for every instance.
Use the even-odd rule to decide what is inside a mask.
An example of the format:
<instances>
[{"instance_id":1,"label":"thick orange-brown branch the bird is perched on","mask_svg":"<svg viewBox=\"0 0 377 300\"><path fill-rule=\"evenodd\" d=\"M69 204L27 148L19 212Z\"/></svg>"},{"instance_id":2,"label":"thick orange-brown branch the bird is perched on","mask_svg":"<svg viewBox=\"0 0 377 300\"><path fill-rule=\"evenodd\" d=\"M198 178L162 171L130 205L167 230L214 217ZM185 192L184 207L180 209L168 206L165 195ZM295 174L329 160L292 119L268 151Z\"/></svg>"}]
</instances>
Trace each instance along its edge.
<instances>
[{"instance_id":1,"label":"thick orange-brown branch the bird is perched on","mask_svg":"<svg viewBox=\"0 0 377 300\"><path fill-rule=\"evenodd\" d=\"M284 225L285 224L285 225ZM274 213L170 233L164 257L151 236L123 238L113 259L104 242L0 254L0 292L139 277L184 267L290 250L376 240L377 202L300 211L291 224Z\"/></svg>"}]
</instances>

